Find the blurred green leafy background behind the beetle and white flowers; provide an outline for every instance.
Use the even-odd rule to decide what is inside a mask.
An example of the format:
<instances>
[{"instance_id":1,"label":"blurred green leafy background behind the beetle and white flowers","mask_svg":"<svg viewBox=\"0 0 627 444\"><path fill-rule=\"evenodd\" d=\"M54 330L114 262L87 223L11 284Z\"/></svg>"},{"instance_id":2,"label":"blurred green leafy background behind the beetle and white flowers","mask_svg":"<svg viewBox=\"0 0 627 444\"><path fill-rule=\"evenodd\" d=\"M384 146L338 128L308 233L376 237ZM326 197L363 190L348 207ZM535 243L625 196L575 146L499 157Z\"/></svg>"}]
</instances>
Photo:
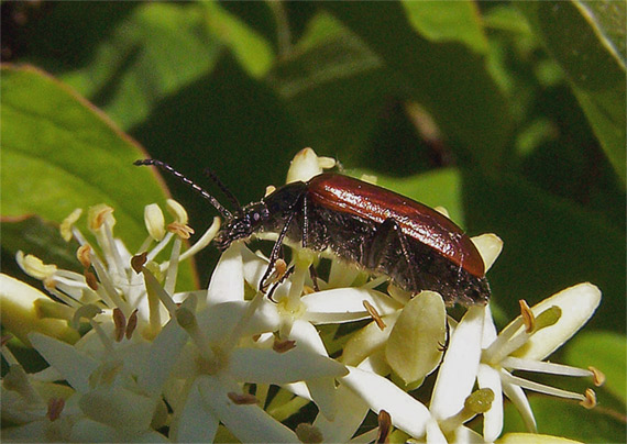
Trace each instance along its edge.
<instances>
[{"instance_id":1,"label":"blurred green leafy background behind the beetle and white flowers","mask_svg":"<svg viewBox=\"0 0 627 444\"><path fill-rule=\"evenodd\" d=\"M593 329L624 338L625 4L2 2L3 270L23 277L7 224L25 214L106 201L141 242L165 193L134 158L215 190L210 167L251 201L311 146L498 234L508 318L588 280ZM164 179L201 232L215 211Z\"/></svg>"}]
</instances>

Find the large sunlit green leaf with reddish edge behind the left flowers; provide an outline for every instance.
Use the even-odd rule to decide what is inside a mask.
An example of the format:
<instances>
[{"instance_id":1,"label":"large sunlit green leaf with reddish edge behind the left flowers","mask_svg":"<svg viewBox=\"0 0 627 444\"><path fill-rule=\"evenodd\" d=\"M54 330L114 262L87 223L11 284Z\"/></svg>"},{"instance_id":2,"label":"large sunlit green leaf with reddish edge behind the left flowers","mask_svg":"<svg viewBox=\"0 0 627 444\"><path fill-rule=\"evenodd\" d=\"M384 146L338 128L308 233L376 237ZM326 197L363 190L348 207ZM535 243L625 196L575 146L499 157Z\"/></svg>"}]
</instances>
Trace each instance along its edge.
<instances>
[{"instance_id":1,"label":"large sunlit green leaf with reddish edge behind the left flowers","mask_svg":"<svg viewBox=\"0 0 627 444\"><path fill-rule=\"evenodd\" d=\"M146 157L141 147L34 68L3 66L1 95L2 217L35 213L59 223L76 208L107 203L117 235L139 248L147 236L144 206L166 198L153 171L133 166ZM190 278L189 266L184 274Z\"/></svg>"}]
</instances>

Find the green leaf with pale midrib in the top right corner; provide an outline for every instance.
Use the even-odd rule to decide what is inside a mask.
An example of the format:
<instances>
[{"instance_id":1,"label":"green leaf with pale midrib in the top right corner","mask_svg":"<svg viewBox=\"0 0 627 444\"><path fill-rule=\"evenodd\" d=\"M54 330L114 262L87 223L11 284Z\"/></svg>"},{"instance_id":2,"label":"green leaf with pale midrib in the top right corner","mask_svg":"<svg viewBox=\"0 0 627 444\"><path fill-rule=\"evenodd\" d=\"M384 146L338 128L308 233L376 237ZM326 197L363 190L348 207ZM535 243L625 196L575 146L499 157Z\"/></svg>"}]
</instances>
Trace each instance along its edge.
<instances>
[{"instance_id":1,"label":"green leaf with pale midrib in the top right corner","mask_svg":"<svg viewBox=\"0 0 627 444\"><path fill-rule=\"evenodd\" d=\"M626 181L624 1L517 2L560 64L618 177Z\"/></svg>"}]
</instances>

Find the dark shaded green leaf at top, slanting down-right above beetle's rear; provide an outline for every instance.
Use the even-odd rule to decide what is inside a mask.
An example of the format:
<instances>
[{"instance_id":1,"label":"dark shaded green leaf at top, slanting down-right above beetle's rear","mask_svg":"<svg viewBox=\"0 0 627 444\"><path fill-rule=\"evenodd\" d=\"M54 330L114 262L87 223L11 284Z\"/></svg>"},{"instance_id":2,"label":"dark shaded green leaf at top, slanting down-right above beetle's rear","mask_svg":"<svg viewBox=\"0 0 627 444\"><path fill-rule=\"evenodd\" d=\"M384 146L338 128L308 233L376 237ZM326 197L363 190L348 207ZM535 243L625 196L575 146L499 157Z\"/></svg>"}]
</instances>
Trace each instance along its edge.
<instances>
[{"instance_id":1,"label":"dark shaded green leaf at top, slanting down-right above beetle's rear","mask_svg":"<svg viewBox=\"0 0 627 444\"><path fill-rule=\"evenodd\" d=\"M433 116L452 147L494 168L503 162L512 116L485 58L457 42L432 43L397 2L323 2L358 34L392 78Z\"/></svg>"}]
</instances>

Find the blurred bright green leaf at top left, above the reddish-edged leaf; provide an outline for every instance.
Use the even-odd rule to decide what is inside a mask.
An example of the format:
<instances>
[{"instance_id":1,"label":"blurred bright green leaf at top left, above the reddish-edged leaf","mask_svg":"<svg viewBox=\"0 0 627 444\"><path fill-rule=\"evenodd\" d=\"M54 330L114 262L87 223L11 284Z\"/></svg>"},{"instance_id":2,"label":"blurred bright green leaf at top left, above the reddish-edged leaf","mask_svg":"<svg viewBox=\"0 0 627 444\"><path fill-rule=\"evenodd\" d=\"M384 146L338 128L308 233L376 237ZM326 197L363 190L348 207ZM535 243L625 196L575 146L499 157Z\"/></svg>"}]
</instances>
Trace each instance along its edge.
<instances>
[{"instance_id":1,"label":"blurred bright green leaf at top left, above the reddish-edged leaf","mask_svg":"<svg viewBox=\"0 0 627 444\"><path fill-rule=\"evenodd\" d=\"M86 66L59 78L129 129L216 65L223 45L206 30L207 16L201 4L139 4L103 34Z\"/></svg>"}]
</instances>

